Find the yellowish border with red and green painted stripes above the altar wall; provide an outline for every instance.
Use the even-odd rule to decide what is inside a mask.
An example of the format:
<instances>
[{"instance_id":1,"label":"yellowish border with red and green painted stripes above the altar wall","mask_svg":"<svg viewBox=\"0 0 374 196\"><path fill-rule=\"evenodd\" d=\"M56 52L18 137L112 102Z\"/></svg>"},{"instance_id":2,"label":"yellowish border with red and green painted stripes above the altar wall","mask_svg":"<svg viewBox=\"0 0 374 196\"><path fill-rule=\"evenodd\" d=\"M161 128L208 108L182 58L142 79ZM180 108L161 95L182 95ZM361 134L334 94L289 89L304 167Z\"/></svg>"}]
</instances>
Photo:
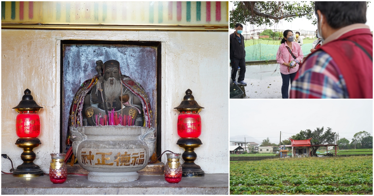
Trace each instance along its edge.
<instances>
[{"instance_id":1,"label":"yellowish border with red and green painted stripes above the altar wall","mask_svg":"<svg viewBox=\"0 0 374 196\"><path fill-rule=\"evenodd\" d=\"M2 1L1 28L227 31L228 1Z\"/></svg>"}]
</instances>

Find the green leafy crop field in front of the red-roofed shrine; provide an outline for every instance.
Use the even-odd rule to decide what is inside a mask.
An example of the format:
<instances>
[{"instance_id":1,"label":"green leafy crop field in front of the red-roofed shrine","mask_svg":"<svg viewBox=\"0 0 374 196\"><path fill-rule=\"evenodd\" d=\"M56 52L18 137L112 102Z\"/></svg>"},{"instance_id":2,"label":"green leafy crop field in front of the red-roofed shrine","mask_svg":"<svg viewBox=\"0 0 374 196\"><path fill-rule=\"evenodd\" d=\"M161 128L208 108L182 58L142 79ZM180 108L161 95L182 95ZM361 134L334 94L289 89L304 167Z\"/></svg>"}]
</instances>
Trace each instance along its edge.
<instances>
[{"instance_id":1,"label":"green leafy crop field in front of the red-roofed shrine","mask_svg":"<svg viewBox=\"0 0 374 196\"><path fill-rule=\"evenodd\" d=\"M373 156L230 162L230 194L373 195Z\"/></svg>"}]
</instances>

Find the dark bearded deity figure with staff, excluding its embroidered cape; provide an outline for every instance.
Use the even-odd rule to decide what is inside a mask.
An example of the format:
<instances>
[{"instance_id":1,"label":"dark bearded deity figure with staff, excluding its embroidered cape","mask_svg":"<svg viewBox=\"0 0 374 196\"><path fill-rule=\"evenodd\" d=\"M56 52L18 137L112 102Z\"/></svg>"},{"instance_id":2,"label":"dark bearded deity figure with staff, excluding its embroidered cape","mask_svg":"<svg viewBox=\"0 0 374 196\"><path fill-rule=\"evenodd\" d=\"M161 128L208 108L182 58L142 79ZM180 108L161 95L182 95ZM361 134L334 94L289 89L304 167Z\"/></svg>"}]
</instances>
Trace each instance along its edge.
<instances>
[{"instance_id":1,"label":"dark bearded deity figure with staff, excluding its embroidered cape","mask_svg":"<svg viewBox=\"0 0 374 196\"><path fill-rule=\"evenodd\" d=\"M143 126L141 100L122 84L119 62L98 60L96 71L98 80L83 103L83 125Z\"/></svg>"}]
</instances>

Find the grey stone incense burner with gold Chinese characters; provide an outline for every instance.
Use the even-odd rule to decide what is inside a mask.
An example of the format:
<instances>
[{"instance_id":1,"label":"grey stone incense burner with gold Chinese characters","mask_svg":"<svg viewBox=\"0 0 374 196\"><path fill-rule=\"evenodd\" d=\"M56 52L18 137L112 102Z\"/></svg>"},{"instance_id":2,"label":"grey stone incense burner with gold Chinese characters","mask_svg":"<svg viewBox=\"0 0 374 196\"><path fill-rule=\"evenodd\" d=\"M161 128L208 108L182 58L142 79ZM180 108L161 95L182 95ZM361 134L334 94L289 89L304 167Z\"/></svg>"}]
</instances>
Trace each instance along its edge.
<instances>
[{"instance_id":1,"label":"grey stone incense burner with gold Chinese characters","mask_svg":"<svg viewBox=\"0 0 374 196\"><path fill-rule=\"evenodd\" d=\"M156 128L134 126L70 127L73 153L88 170L88 180L119 183L138 180L154 150Z\"/></svg>"}]
</instances>

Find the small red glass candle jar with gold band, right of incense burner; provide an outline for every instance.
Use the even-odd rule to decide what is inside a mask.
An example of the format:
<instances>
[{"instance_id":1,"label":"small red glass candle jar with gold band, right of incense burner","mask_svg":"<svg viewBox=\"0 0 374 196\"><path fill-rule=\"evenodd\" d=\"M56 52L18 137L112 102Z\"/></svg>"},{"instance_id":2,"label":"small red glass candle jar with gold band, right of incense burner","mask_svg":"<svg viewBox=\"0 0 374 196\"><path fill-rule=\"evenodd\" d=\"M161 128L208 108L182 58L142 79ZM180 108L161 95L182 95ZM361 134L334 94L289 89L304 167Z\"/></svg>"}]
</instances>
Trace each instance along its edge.
<instances>
[{"instance_id":1,"label":"small red glass candle jar with gold band, right of incense burner","mask_svg":"<svg viewBox=\"0 0 374 196\"><path fill-rule=\"evenodd\" d=\"M182 180L181 154L166 153L168 162L165 165L165 180L168 183L179 183Z\"/></svg>"}]
</instances>

